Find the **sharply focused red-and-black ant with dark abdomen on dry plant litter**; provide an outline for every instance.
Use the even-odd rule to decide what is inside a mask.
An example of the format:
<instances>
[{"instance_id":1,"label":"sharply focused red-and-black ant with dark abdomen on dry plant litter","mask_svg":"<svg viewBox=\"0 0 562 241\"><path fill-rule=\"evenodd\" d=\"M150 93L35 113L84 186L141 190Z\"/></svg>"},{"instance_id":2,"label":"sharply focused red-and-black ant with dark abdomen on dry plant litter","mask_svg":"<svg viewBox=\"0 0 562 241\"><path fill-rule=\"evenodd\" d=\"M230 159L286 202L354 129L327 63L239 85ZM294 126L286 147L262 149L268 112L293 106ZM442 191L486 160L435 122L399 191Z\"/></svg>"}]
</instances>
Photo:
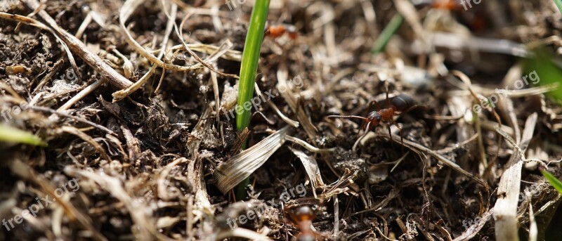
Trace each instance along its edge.
<instances>
[{"instance_id":1,"label":"sharply focused red-and-black ant with dark abdomen on dry plant litter","mask_svg":"<svg viewBox=\"0 0 562 241\"><path fill-rule=\"evenodd\" d=\"M386 124L386 127L388 128L388 135L390 135L391 138L392 138L392 132L391 132L390 125L394 124L396 127L398 127L398 130L400 130L400 143L404 145L404 138L402 136L402 127L400 127L400 125L398 125L394 121L394 116L403 115L405 112L409 112L410 110L417 108L417 105L414 105L414 100L412 100L410 96L406 96L403 94L400 94L399 96L396 96L392 98L392 100L390 100L388 98L388 89L387 89L386 90L387 108L381 108L379 103L377 103L377 100L373 100L369 104L369 109L371 109L373 103L377 105L378 111L374 110L372 112L369 112L369 115L367 115L367 117L360 117L357 115L329 115L328 118L362 119L363 121L365 121L365 123L362 126L362 129L365 129L365 134L371 131L371 128L377 127L381 123ZM355 147L353 149L355 149Z\"/></svg>"}]
</instances>

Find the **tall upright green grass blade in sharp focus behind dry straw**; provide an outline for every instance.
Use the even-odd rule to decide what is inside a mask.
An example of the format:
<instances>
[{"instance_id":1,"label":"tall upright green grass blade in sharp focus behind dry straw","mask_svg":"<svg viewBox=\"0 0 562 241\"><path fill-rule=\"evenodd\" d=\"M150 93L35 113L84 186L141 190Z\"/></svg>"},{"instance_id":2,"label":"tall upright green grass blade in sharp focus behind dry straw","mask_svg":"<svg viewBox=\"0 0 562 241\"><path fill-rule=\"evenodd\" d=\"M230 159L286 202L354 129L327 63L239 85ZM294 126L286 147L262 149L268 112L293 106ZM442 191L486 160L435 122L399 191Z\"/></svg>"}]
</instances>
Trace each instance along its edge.
<instances>
[{"instance_id":1,"label":"tall upright green grass blade in sharp focus behind dry straw","mask_svg":"<svg viewBox=\"0 0 562 241\"><path fill-rule=\"evenodd\" d=\"M254 96L254 82L256 81L256 72L258 70L259 53L261 50L261 42L263 41L266 20L268 19L269 0L257 0L254 9L251 11L251 17L244 43L244 51L242 52L242 65L240 65L240 82L238 84L238 102L236 112L236 129L242 131L250 124L251 109L244 109L244 103L250 103ZM248 106L246 104L246 106ZM246 147L246 142L242 148ZM236 197L238 200L246 196L244 188L248 185L249 179L246 179L237 186Z\"/></svg>"}]
</instances>

